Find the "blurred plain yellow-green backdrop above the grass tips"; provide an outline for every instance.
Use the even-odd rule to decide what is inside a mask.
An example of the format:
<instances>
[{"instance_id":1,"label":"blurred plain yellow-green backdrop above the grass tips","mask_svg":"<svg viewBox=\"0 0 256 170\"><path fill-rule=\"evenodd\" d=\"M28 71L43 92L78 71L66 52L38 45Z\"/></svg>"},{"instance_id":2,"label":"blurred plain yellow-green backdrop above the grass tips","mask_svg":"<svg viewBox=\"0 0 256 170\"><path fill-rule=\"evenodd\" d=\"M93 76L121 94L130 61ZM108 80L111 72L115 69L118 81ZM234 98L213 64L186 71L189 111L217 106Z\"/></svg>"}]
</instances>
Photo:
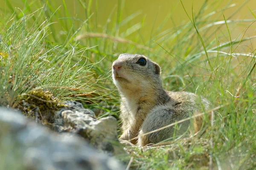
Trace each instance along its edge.
<instances>
[{"instance_id":1,"label":"blurred plain yellow-green backdrop above the grass tips","mask_svg":"<svg viewBox=\"0 0 256 170\"><path fill-rule=\"evenodd\" d=\"M143 28L140 29L140 31L143 32L142 36L145 41L150 39L151 32L157 29L157 27L163 23L164 18L169 14L170 18L160 31L173 28L189 21L189 18L183 10L180 0L92 0L91 2L89 0L79 0L80 3L78 0L54 0L49 2L45 0L9 0L9 3L11 3L14 7L20 8L21 10L24 8L24 3L28 3L31 6L31 11L35 11L36 6L40 8L41 4L48 3L52 6L53 10L59 8L58 10L60 10L61 13L64 13L65 9L63 6L63 1L67 5L70 17L79 18L81 20L86 20L87 18L85 14L86 12L81 6L81 3L85 3L86 5L88 5L88 3L92 3L90 12L87 13L92 14L91 19L95 21L94 31L97 30L97 32L102 32L102 27L104 27L106 23L109 25L114 25L113 18L117 17L116 12L118 9L123 9L120 11L120 20L136 13L134 19L131 20L131 22L119 28L119 32L123 32L130 26L133 26L136 23L140 23L143 20ZM7 1L0 0L0 8L2 9L2 12L4 10L8 10L8 8L6 8L8 7L8 4L5 2ZM212 3L212 5L210 5L211 7L218 6L219 10L221 10L221 8L224 9L227 6L230 7L224 11L224 15L226 19L232 20L241 20L245 18L253 19L253 16L248 8L250 8L252 11L256 9L256 0L182 0L182 2L190 17L192 16L192 6L194 14L197 14L202 4L205 2L207 2L208 5ZM243 3L246 3L246 5L240 9ZM233 12L236 10L239 10L239 12L232 16ZM3 18L5 17L5 14L2 12L0 15ZM209 12L212 12L212 9L204 11L205 14L208 14ZM216 17L218 17L220 20L223 20L223 16L219 15L219 13L212 15L212 17L215 17L214 20L217 19ZM55 21L58 22L58 20ZM76 24L80 25L81 22L77 22ZM60 26L60 24L55 24L55 28L58 30L62 29ZM236 29L235 32L232 32L231 30L231 36L236 36L243 29L244 26ZM251 34L252 31L253 30L250 30L248 34ZM134 34L130 35L129 37L133 37Z\"/></svg>"}]
</instances>

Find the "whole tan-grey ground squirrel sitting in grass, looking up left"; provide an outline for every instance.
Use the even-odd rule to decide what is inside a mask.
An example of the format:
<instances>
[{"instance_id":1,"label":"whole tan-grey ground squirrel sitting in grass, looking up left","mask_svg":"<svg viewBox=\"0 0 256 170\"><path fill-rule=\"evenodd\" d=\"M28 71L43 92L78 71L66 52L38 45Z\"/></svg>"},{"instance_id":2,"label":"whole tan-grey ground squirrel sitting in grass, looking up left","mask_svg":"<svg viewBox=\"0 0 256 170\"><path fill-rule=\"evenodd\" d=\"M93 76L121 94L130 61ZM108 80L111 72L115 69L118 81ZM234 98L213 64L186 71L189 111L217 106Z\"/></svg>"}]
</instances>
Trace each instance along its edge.
<instances>
[{"instance_id":1,"label":"whole tan-grey ground squirrel sitting in grass, looking up left","mask_svg":"<svg viewBox=\"0 0 256 170\"><path fill-rule=\"evenodd\" d=\"M175 134L184 133L190 121L175 127L140 136L175 123L195 114L201 109L201 103L207 109L209 102L190 92L169 92L163 89L160 79L160 66L138 54L121 54L113 62L113 82L121 95L122 135L119 139L129 140L139 135L138 140L131 143L145 146L158 143ZM193 122L194 131L201 127L201 118Z\"/></svg>"}]
</instances>

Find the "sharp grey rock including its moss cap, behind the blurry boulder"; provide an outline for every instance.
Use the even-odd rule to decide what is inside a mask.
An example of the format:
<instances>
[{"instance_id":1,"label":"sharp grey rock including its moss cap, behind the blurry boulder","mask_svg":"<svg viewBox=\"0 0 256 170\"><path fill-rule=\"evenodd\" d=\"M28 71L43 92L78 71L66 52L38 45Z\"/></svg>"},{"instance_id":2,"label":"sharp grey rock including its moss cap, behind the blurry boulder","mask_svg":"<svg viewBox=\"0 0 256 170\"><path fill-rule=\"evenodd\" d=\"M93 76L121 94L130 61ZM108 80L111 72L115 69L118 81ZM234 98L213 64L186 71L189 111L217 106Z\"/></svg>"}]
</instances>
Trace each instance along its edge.
<instances>
[{"instance_id":1,"label":"sharp grey rock including its moss cap, behind the blurry boulder","mask_svg":"<svg viewBox=\"0 0 256 170\"><path fill-rule=\"evenodd\" d=\"M28 118L58 133L79 134L109 155L125 154L117 136L116 118L95 118L90 109L76 101L62 103L47 91L37 89L23 95L18 109Z\"/></svg>"}]
</instances>

